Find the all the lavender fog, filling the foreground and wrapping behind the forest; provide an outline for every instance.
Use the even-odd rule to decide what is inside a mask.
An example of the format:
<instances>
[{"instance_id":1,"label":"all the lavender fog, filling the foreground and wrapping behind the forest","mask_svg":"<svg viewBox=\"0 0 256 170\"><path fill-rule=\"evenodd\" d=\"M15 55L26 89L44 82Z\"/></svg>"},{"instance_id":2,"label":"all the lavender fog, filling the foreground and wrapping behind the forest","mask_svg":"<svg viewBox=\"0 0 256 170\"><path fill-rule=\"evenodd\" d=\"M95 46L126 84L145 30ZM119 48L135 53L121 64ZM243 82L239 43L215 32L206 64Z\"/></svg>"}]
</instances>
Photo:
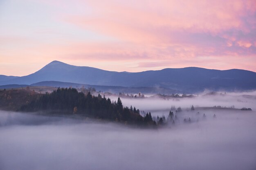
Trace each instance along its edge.
<instances>
[{"instance_id":1,"label":"all the lavender fog, filling the foreground and wrapping behind the forest","mask_svg":"<svg viewBox=\"0 0 256 170\"><path fill-rule=\"evenodd\" d=\"M182 107L175 124L156 130L0 111L0 170L255 170L255 101L240 96L122 99L125 106L159 116L167 116L171 105ZM253 111L191 111L191 105ZM191 122L184 122L189 117Z\"/></svg>"}]
</instances>

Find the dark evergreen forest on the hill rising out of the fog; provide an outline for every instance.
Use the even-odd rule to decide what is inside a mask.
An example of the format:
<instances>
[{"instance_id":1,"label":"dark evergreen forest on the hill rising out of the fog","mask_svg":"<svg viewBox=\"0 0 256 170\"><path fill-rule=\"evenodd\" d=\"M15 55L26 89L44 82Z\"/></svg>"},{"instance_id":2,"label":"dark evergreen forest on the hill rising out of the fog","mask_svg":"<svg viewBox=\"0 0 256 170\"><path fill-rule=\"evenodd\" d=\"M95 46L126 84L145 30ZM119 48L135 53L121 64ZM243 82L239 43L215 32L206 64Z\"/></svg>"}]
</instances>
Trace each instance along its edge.
<instances>
[{"instance_id":1,"label":"dark evergreen forest on the hill rising out of the fog","mask_svg":"<svg viewBox=\"0 0 256 170\"><path fill-rule=\"evenodd\" d=\"M94 96L88 92L78 92L75 88L58 88L46 93L20 107L20 111L44 111L54 114L79 114L91 118L135 124L138 126L156 126L151 114L141 116L139 109L124 107L121 99L111 102L105 96Z\"/></svg>"}]
</instances>

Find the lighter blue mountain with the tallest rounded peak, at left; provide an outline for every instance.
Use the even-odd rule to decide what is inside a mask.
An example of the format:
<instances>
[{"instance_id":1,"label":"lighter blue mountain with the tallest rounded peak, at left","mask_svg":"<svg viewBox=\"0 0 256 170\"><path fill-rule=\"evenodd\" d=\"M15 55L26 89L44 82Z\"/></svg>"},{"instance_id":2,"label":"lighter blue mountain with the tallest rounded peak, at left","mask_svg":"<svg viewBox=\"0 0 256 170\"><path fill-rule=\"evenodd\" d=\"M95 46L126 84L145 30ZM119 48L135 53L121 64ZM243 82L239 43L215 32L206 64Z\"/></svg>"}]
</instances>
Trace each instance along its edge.
<instances>
[{"instance_id":1,"label":"lighter blue mountain with the tallest rounded peak, at left","mask_svg":"<svg viewBox=\"0 0 256 170\"><path fill-rule=\"evenodd\" d=\"M0 85L32 84L41 81L62 81L82 84L110 85L110 83L103 80L103 77L105 77L106 81L108 81L108 79L115 76L115 74L118 74L118 72L110 72L91 67L79 67L68 65L60 61L52 61L33 74L0 82Z\"/></svg>"}]
</instances>

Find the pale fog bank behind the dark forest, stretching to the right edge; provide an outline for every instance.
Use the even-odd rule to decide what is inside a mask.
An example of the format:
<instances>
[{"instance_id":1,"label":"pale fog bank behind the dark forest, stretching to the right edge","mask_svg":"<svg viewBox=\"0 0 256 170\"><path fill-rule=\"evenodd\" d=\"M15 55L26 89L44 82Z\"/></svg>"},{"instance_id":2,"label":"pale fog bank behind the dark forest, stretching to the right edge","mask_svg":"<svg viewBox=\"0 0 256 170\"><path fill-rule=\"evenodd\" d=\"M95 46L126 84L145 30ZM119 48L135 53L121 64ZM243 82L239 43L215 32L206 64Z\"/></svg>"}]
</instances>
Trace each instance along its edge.
<instances>
[{"instance_id":1,"label":"pale fog bank behind the dark forest, stretching to the right edge","mask_svg":"<svg viewBox=\"0 0 256 170\"><path fill-rule=\"evenodd\" d=\"M224 93L223 93L224 94ZM246 94L245 96L242 96ZM169 98L164 100L161 98L121 98L123 105L130 107L135 106L136 109L145 112L151 112L153 115L167 116L171 106L181 107L183 111L190 110L191 106L194 107L235 107L241 109L243 107L256 110L256 91L252 92L238 92L228 93L225 95L205 95L200 94L193 98ZM117 100L117 98L113 98Z\"/></svg>"}]
</instances>

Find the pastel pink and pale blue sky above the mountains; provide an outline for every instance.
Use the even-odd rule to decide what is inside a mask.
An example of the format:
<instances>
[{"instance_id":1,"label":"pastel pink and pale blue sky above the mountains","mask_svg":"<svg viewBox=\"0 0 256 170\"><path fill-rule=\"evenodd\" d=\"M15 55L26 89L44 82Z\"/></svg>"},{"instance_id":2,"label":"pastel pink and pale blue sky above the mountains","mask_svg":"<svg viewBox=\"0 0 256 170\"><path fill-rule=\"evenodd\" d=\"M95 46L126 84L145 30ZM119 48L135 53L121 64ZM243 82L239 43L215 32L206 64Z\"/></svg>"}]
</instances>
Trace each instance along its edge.
<instances>
[{"instance_id":1,"label":"pastel pink and pale blue sky above the mountains","mask_svg":"<svg viewBox=\"0 0 256 170\"><path fill-rule=\"evenodd\" d=\"M0 74L54 60L119 72L256 72L256 1L1 0Z\"/></svg>"}]
</instances>

